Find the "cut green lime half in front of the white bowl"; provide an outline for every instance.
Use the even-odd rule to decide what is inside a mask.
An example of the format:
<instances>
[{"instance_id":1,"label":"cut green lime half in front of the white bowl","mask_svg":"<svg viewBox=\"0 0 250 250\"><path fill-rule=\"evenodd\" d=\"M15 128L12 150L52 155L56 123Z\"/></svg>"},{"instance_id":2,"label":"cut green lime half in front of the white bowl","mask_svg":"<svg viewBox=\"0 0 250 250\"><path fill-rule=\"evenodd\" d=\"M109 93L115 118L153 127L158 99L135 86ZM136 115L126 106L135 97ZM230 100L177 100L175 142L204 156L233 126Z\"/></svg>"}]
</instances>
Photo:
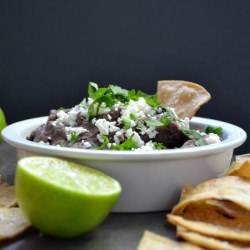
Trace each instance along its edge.
<instances>
[{"instance_id":1,"label":"cut green lime half in front of the white bowl","mask_svg":"<svg viewBox=\"0 0 250 250\"><path fill-rule=\"evenodd\" d=\"M15 191L34 227L68 238L99 225L116 204L121 185L93 168L34 156L18 161Z\"/></svg>"}]
</instances>

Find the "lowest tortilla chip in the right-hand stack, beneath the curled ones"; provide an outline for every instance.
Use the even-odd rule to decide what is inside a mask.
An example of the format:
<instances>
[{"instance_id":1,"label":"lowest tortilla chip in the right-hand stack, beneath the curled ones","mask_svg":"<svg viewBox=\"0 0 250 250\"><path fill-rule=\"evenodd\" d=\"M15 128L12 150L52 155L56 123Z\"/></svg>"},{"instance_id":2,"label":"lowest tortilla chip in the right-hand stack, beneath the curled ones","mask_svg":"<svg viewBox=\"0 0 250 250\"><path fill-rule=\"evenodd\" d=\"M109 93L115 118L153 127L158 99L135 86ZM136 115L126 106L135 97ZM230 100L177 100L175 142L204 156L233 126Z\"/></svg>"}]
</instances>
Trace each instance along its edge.
<instances>
[{"instance_id":1,"label":"lowest tortilla chip in the right-hand stack, beneath the curled ones","mask_svg":"<svg viewBox=\"0 0 250 250\"><path fill-rule=\"evenodd\" d=\"M194 245L204 247L211 250L250 250L250 245L244 245L236 241L219 240L212 237L207 237L198 233L187 231L181 227L177 228L179 238L186 240Z\"/></svg>"}]
</instances>

